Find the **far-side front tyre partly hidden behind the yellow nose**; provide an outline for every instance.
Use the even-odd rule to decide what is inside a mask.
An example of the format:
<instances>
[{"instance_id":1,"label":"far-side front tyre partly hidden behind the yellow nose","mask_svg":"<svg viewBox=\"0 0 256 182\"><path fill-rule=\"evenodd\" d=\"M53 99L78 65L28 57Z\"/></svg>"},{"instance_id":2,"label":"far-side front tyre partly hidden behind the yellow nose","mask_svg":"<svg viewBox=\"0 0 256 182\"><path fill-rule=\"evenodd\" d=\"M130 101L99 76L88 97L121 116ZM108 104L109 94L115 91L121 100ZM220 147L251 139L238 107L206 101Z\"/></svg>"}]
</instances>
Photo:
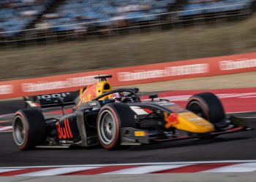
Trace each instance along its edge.
<instances>
[{"instance_id":1,"label":"far-side front tyre partly hidden behind the yellow nose","mask_svg":"<svg viewBox=\"0 0 256 182\"><path fill-rule=\"evenodd\" d=\"M192 97L189 98L187 109L208 120L214 124L217 129L227 126L222 103L219 98L211 92L192 95ZM213 136L205 135L200 138L213 138Z\"/></svg>"}]
</instances>

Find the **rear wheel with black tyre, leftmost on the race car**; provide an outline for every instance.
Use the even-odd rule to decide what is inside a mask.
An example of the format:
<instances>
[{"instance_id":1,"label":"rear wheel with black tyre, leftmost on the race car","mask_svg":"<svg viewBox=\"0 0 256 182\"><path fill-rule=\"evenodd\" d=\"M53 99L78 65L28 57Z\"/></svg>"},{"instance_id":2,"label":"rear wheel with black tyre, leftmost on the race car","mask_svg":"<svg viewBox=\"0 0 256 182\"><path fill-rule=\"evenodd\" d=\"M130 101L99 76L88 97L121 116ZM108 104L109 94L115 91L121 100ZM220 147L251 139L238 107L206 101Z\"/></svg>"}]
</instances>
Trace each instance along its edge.
<instances>
[{"instance_id":1,"label":"rear wheel with black tyre, leftmost on the race car","mask_svg":"<svg viewBox=\"0 0 256 182\"><path fill-rule=\"evenodd\" d=\"M45 141L45 118L37 108L17 111L12 119L12 137L20 150L34 149Z\"/></svg>"}]
</instances>

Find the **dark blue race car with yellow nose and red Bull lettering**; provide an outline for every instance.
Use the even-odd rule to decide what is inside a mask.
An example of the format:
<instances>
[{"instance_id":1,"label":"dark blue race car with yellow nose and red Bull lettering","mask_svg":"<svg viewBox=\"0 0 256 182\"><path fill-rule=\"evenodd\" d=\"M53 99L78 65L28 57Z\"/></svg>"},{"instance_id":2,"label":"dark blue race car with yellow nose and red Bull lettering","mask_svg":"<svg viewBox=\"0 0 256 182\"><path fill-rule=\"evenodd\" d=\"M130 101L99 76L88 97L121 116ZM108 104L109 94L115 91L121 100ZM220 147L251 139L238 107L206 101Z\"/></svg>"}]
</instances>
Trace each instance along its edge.
<instances>
[{"instance_id":1,"label":"dark blue race car with yellow nose and red Bull lettering","mask_svg":"<svg viewBox=\"0 0 256 182\"><path fill-rule=\"evenodd\" d=\"M62 116L45 118L38 103L26 100L29 108L17 111L12 119L18 149L100 144L113 150L252 130L244 119L226 118L222 103L211 92L193 95L183 108L157 95L142 101L138 88L113 90L107 80L110 77L96 76L99 82L70 93L67 97L75 105L69 114L65 114L64 99L59 97Z\"/></svg>"}]
</instances>

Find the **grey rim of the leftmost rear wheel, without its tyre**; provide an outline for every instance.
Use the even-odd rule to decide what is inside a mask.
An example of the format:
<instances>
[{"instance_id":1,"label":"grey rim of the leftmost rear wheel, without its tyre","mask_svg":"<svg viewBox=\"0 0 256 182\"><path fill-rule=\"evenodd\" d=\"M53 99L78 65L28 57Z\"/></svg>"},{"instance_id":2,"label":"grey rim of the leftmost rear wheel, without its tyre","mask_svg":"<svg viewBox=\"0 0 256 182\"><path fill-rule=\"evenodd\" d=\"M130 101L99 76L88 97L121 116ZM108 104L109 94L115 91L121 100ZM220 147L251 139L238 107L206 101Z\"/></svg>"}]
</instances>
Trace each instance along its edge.
<instances>
[{"instance_id":1,"label":"grey rim of the leftmost rear wheel, without its tyre","mask_svg":"<svg viewBox=\"0 0 256 182\"><path fill-rule=\"evenodd\" d=\"M26 128L20 116L16 116L12 130L15 143L18 146L22 146L26 138Z\"/></svg>"}]
</instances>

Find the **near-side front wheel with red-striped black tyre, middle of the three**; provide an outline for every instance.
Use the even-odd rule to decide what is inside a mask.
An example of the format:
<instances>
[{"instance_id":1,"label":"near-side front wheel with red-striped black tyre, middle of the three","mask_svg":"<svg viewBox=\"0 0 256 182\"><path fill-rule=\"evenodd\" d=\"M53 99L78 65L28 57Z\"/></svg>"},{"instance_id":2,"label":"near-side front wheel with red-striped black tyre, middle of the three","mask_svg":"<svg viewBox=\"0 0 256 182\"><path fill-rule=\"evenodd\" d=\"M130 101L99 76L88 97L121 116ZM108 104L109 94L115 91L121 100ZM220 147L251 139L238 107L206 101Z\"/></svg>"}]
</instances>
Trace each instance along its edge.
<instances>
[{"instance_id":1,"label":"near-side front wheel with red-striped black tyre, middle of the three","mask_svg":"<svg viewBox=\"0 0 256 182\"><path fill-rule=\"evenodd\" d=\"M110 103L101 108L97 118L99 143L108 150L123 149L121 127L135 127L135 113L125 103Z\"/></svg>"}]
</instances>

